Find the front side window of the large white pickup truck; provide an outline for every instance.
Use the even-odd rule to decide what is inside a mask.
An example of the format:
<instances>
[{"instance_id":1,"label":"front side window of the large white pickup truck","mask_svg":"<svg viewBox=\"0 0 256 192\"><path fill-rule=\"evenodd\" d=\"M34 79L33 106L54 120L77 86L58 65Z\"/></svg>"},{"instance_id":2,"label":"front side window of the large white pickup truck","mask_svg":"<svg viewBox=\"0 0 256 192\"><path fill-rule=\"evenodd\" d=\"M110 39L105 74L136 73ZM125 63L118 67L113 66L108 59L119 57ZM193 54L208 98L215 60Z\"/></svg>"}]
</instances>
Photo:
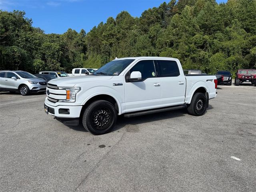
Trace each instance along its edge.
<instances>
[{"instance_id":1,"label":"front side window of the large white pickup truck","mask_svg":"<svg viewBox=\"0 0 256 192\"><path fill-rule=\"evenodd\" d=\"M141 73L142 81L147 78L156 77L156 69L153 60L139 61L130 69L130 74L133 71L139 71Z\"/></svg>"}]
</instances>

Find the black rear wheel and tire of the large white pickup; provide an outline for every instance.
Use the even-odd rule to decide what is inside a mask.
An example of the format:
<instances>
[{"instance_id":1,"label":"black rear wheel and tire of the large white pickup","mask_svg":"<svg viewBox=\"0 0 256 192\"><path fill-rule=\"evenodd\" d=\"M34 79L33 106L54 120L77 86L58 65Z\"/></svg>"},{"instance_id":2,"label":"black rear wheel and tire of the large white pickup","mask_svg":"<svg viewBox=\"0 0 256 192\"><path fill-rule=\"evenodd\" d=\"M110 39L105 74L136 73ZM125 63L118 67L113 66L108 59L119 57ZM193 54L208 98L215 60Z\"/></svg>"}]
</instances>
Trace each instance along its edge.
<instances>
[{"instance_id":1,"label":"black rear wheel and tire of the large white pickup","mask_svg":"<svg viewBox=\"0 0 256 192\"><path fill-rule=\"evenodd\" d=\"M207 98L203 93L194 94L191 103L188 105L188 113L194 116L201 116L206 112Z\"/></svg>"}]
</instances>

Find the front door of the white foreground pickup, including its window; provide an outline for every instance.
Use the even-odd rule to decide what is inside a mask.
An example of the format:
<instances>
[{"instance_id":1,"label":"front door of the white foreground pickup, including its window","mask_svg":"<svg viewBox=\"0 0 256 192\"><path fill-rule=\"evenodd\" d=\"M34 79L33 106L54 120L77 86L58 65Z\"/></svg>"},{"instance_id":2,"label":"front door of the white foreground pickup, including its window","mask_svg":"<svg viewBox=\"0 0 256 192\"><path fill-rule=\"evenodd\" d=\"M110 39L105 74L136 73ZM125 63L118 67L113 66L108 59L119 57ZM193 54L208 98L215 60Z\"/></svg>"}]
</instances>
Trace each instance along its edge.
<instances>
[{"instance_id":1,"label":"front door of the white foreground pickup, including its window","mask_svg":"<svg viewBox=\"0 0 256 192\"><path fill-rule=\"evenodd\" d=\"M141 73L142 80L140 82L127 81L127 77L129 77L133 71L139 71ZM153 60L137 62L126 73L125 78L125 112L147 110L160 106L160 78L156 76L156 68Z\"/></svg>"}]
</instances>

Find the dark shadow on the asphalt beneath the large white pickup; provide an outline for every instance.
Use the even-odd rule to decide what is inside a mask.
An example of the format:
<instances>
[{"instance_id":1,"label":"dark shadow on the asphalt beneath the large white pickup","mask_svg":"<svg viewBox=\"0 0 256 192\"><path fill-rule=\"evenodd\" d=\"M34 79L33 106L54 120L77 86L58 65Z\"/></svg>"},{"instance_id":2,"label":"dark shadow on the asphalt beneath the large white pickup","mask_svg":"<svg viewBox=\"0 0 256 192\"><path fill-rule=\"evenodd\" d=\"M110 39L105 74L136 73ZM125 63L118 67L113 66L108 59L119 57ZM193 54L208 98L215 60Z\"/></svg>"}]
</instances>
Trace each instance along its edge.
<instances>
[{"instance_id":1,"label":"dark shadow on the asphalt beneath the large white pickup","mask_svg":"<svg viewBox=\"0 0 256 192\"><path fill-rule=\"evenodd\" d=\"M212 105L209 105L207 110L211 110L211 109L213 109L213 107ZM206 110L206 113L207 113L207 110ZM143 123L157 122L160 120L167 120L170 118L182 117L182 116L185 116L185 114L188 114L187 109L172 110L168 112L159 112L159 113L136 116L131 118L118 116L116 126L114 126L111 132L118 131L128 125L136 126ZM78 126L69 126L69 125L66 125L66 126L76 131L87 132L81 123Z\"/></svg>"}]
</instances>

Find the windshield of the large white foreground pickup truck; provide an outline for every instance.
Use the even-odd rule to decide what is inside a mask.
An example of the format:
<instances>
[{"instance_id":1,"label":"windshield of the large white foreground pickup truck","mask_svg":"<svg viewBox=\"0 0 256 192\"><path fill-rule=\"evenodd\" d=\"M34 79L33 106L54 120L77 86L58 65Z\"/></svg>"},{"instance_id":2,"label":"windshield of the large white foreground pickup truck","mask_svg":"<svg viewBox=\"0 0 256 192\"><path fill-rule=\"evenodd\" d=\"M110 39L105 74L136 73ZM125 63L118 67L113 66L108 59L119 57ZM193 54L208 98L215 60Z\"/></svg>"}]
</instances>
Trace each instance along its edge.
<instances>
[{"instance_id":1,"label":"windshield of the large white foreground pickup truck","mask_svg":"<svg viewBox=\"0 0 256 192\"><path fill-rule=\"evenodd\" d=\"M113 60L102 66L93 75L119 75L128 65L130 65L134 59Z\"/></svg>"}]
</instances>

